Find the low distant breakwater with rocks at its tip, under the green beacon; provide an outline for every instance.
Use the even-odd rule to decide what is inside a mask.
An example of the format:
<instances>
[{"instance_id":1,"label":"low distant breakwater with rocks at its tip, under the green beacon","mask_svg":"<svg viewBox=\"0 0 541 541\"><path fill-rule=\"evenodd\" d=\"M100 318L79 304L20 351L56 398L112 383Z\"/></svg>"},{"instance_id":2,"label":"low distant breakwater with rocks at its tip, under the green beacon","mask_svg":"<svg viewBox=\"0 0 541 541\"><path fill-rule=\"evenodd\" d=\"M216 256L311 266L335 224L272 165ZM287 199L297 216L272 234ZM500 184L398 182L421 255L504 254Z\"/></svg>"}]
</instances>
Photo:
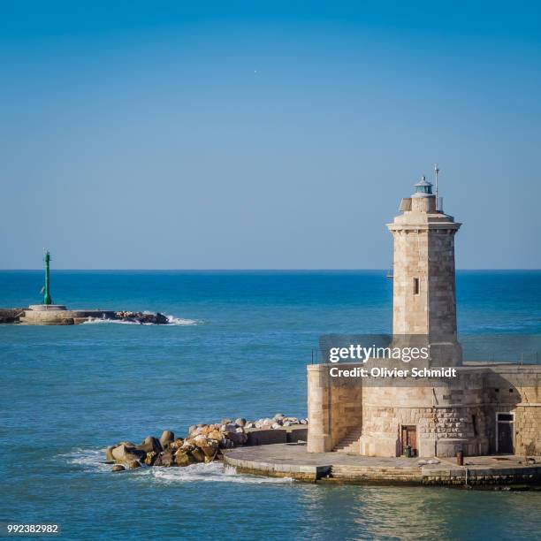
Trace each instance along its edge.
<instances>
[{"instance_id":1,"label":"low distant breakwater with rocks at its tip, under the green beacon","mask_svg":"<svg viewBox=\"0 0 541 541\"><path fill-rule=\"evenodd\" d=\"M135 324L170 324L164 314L127 310L72 310L61 304L34 304L28 308L0 309L0 324L74 325L110 320Z\"/></svg>"}]
</instances>

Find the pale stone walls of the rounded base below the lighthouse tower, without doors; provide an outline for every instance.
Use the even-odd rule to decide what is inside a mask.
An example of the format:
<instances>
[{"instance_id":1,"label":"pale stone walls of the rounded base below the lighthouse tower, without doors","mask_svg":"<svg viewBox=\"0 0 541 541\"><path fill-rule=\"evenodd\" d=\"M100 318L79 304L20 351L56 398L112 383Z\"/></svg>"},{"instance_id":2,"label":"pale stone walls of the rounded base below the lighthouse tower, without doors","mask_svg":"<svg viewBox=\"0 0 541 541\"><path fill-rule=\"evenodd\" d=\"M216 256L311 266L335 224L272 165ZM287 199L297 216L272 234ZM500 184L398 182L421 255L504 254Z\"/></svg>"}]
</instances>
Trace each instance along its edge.
<instances>
[{"instance_id":1,"label":"pale stone walls of the rounded base below the lighthouse tower, without doors","mask_svg":"<svg viewBox=\"0 0 541 541\"><path fill-rule=\"evenodd\" d=\"M309 366L309 452L331 451L357 429L361 454L398 456L401 426L415 425L419 456L496 453L496 415L508 412L515 453L541 455L541 366L479 364L434 386L386 387L329 377L330 365Z\"/></svg>"}]
</instances>

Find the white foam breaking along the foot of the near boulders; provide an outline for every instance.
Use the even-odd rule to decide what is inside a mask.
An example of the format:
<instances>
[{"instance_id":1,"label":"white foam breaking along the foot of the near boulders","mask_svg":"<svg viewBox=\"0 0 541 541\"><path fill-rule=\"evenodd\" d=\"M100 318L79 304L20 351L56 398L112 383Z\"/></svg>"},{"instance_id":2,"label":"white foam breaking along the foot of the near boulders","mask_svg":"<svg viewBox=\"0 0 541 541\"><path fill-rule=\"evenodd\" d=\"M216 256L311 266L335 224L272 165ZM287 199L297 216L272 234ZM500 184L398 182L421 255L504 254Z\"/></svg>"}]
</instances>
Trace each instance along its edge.
<instances>
[{"instance_id":1,"label":"white foam breaking along the foot of the near boulders","mask_svg":"<svg viewBox=\"0 0 541 541\"><path fill-rule=\"evenodd\" d=\"M74 449L71 453L58 455L62 461L77 466L85 472L111 473L112 466L105 464L105 449ZM246 483L246 484L283 484L293 483L291 477L263 477L238 474L231 466L221 462L210 464L192 464L185 468L149 468L143 466L130 472L141 480L149 479L158 483Z\"/></svg>"}]
</instances>

